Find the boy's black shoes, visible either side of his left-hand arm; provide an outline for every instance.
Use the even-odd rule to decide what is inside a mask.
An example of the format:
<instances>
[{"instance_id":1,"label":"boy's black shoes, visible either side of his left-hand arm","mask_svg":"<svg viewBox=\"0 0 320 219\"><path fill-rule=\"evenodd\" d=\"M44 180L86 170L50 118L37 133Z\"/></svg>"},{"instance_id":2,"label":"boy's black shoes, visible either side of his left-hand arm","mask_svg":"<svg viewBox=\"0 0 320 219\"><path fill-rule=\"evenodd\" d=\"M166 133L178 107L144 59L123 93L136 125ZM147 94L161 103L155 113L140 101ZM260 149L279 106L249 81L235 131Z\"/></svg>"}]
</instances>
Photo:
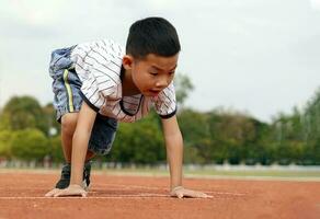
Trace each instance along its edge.
<instances>
[{"instance_id":1,"label":"boy's black shoes, visible either side of his left-hand arm","mask_svg":"<svg viewBox=\"0 0 320 219\"><path fill-rule=\"evenodd\" d=\"M91 161L87 161L84 163L83 182L82 182L82 186L85 191L89 189L89 185L90 185L90 172L91 172ZM61 176L60 176L60 180L56 184L56 188L59 188L59 189L67 188L70 184L70 177L71 177L71 164L67 163L62 166Z\"/></svg>"}]
</instances>

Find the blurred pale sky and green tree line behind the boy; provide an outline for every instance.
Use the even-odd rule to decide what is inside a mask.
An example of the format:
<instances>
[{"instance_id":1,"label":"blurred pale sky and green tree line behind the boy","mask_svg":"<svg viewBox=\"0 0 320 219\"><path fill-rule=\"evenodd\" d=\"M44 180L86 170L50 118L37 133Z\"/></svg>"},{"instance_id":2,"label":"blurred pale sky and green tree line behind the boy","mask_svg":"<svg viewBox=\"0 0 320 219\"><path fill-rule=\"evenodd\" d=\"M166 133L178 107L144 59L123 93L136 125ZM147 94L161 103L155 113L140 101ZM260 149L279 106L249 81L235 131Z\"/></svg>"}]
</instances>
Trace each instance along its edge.
<instances>
[{"instance_id":1,"label":"blurred pale sky and green tree line behind the boy","mask_svg":"<svg viewBox=\"0 0 320 219\"><path fill-rule=\"evenodd\" d=\"M320 0L1 0L0 159L64 161L52 106L50 51L112 38L163 16L182 44L179 120L185 163L320 164ZM151 114L122 124L117 165L165 162Z\"/></svg>"}]
</instances>

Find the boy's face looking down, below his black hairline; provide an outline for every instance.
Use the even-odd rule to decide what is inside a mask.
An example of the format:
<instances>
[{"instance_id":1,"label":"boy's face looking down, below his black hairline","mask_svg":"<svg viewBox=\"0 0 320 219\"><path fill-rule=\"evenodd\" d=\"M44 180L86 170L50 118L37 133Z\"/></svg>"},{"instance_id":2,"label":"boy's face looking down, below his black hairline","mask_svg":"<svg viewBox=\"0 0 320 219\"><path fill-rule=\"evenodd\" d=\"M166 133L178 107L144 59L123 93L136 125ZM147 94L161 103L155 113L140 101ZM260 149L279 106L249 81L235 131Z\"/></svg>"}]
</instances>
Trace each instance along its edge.
<instances>
[{"instance_id":1,"label":"boy's face looking down, below his black hairline","mask_svg":"<svg viewBox=\"0 0 320 219\"><path fill-rule=\"evenodd\" d=\"M173 80L179 54L162 57L149 54L142 60L133 58L130 65L132 80L146 96L157 96Z\"/></svg>"}]
</instances>

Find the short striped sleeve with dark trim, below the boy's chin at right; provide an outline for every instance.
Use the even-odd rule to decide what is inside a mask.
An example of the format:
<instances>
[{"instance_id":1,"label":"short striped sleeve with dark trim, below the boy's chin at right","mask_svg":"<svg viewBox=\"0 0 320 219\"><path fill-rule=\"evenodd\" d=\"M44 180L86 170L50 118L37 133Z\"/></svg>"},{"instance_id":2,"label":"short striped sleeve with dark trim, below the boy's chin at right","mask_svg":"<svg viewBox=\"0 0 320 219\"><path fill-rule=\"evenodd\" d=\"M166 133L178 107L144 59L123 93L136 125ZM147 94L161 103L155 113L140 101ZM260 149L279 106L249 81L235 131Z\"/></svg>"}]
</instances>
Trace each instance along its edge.
<instances>
[{"instance_id":1,"label":"short striped sleeve with dark trim, below the boy's chin at right","mask_svg":"<svg viewBox=\"0 0 320 219\"><path fill-rule=\"evenodd\" d=\"M155 108L162 118L170 118L175 115L176 101L173 82L159 93L155 101Z\"/></svg>"}]
</instances>

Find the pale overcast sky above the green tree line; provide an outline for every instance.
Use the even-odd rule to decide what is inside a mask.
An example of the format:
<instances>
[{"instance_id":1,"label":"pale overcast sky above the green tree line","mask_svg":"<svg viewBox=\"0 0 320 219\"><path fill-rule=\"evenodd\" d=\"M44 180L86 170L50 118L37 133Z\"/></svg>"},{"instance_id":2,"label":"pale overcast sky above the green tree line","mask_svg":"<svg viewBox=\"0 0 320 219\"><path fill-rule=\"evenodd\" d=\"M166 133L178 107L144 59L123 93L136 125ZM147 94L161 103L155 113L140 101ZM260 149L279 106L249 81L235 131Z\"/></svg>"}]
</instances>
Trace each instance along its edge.
<instances>
[{"instance_id":1,"label":"pale overcast sky above the green tree line","mask_svg":"<svg viewBox=\"0 0 320 219\"><path fill-rule=\"evenodd\" d=\"M320 88L320 0L1 0L0 106L13 95L53 100L50 51L112 38L163 16L178 30L186 106L270 122L304 108Z\"/></svg>"}]
</instances>

